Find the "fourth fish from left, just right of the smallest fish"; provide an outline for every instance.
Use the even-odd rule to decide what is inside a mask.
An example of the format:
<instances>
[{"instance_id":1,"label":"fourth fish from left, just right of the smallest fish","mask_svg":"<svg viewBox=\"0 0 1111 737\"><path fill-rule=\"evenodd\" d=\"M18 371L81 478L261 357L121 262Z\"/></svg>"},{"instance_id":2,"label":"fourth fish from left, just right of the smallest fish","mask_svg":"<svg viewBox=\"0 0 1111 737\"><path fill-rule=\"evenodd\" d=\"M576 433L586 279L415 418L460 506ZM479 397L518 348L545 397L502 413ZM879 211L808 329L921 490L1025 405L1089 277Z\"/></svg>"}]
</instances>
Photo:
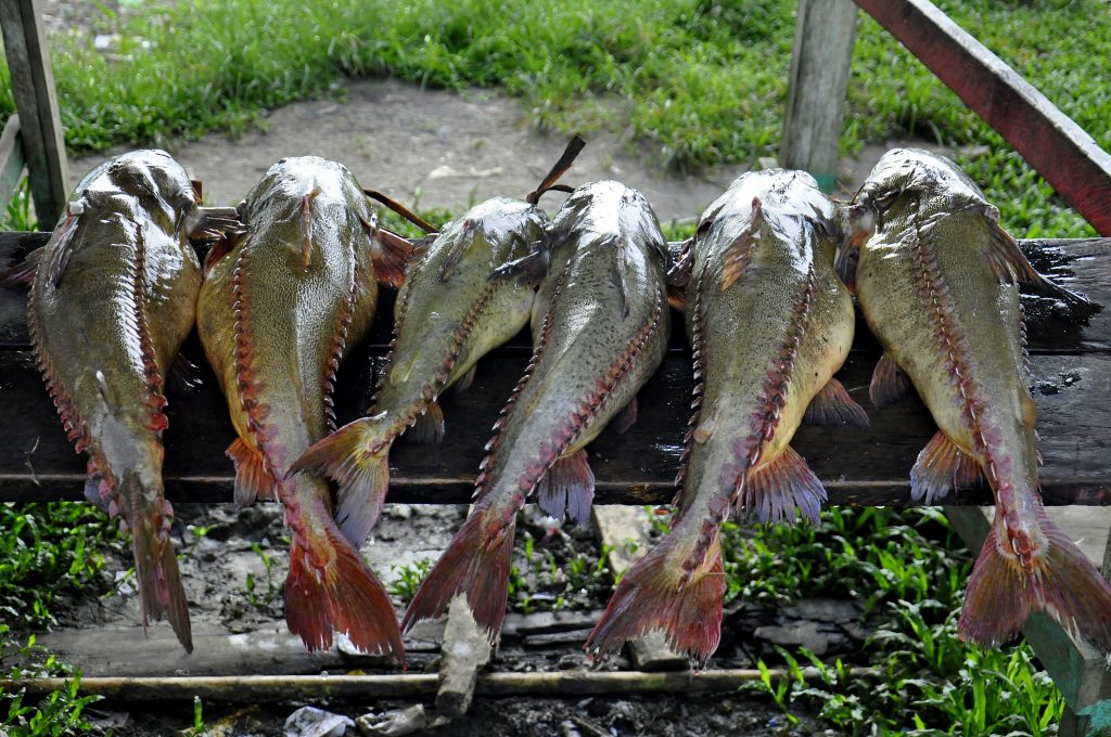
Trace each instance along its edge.
<instances>
[{"instance_id":1,"label":"fourth fish from left, just right of the smallest fish","mask_svg":"<svg viewBox=\"0 0 1111 737\"><path fill-rule=\"evenodd\" d=\"M634 418L637 392L667 350L667 255L644 196L600 181L571 193L543 248L494 276L539 283L532 359L494 424L471 514L410 603L404 630L463 595L497 642L518 511L534 496L552 517L588 517L594 478L583 448L611 421Z\"/></svg>"}]
</instances>

